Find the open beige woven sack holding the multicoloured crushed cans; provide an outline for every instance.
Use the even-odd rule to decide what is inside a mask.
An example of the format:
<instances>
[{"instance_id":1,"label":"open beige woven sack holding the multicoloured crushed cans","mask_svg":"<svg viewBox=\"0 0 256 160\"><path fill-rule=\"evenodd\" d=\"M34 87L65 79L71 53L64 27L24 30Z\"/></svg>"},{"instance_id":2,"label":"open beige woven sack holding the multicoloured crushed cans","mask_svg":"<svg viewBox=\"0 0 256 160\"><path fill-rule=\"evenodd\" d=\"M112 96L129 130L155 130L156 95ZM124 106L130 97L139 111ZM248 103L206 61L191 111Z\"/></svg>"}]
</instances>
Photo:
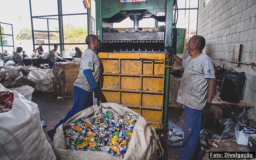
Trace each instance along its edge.
<instances>
[{"instance_id":1,"label":"open beige woven sack holding the multicoloured crushed cans","mask_svg":"<svg viewBox=\"0 0 256 160\"><path fill-rule=\"evenodd\" d=\"M54 135L53 148L57 159L59 160L120 160L108 153L96 151L69 151L66 150L63 129L69 128L70 124L76 120L94 114L106 113L112 111L115 115L124 118L125 115L138 116L134 126L130 143L128 145L124 160L154 160L158 159L158 154L162 156L164 151L160 144L155 128L133 110L115 103L102 103L100 106L91 106L72 116L66 123L60 125Z\"/></svg>"}]
</instances>

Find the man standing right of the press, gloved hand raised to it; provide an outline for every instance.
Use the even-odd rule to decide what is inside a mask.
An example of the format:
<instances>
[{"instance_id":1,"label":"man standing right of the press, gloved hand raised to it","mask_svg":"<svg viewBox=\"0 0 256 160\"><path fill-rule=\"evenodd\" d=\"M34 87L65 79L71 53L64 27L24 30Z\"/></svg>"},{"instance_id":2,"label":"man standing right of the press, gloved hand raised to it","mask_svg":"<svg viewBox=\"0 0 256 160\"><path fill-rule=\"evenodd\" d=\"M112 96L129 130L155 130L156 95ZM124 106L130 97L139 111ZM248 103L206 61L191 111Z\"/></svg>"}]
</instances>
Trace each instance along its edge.
<instances>
[{"instance_id":1,"label":"man standing right of the press, gloved hand raised to it","mask_svg":"<svg viewBox=\"0 0 256 160\"><path fill-rule=\"evenodd\" d=\"M180 82L177 102L184 105L184 141L178 150L178 160L202 160L200 147L201 112L202 116L210 113L215 89L214 63L202 53L205 39L194 35L188 43L190 56L182 60L170 46L167 52L184 68Z\"/></svg>"}]
</instances>

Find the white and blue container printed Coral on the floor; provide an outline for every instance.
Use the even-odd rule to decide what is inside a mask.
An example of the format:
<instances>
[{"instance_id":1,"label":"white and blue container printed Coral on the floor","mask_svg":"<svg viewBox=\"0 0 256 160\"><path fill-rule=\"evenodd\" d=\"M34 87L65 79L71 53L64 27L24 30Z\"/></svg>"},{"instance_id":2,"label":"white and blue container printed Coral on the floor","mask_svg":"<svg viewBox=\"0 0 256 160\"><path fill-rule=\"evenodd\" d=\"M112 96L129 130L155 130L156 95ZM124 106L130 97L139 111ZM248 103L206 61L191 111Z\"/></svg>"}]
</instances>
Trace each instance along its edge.
<instances>
[{"instance_id":1,"label":"white and blue container printed Coral on the floor","mask_svg":"<svg viewBox=\"0 0 256 160\"><path fill-rule=\"evenodd\" d=\"M235 131L236 143L246 146L250 136L256 136L256 128L245 126L238 120Z\"/></svg>"}]
</instances>

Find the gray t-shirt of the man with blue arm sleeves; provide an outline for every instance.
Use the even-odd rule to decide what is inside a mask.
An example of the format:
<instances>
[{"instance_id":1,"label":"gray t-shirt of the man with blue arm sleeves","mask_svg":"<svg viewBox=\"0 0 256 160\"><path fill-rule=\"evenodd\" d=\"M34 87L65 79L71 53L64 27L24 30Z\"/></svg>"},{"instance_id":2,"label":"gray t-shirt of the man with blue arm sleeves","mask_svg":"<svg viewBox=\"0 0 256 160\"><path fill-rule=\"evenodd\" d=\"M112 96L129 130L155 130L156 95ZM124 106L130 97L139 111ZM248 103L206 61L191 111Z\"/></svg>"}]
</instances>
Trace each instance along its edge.
<instances>
[{"instance_id":1,"label":"gray t-shirt of the man with blue arm sleeves","mask_svg":"<svg viewBox=\"0 0 256 160\"><path fill-rule=\"evenodd\" d=\"M82 55L80 71L77 80L74 82L74 86L80 87L87 92L92 92L92 89L90 88L89 83L83 73L83 71L86 69L91 70L92 76L97 84L100 78L100 59L97 54L89 48L86 49Z\"/></svg>"}]
</instances>

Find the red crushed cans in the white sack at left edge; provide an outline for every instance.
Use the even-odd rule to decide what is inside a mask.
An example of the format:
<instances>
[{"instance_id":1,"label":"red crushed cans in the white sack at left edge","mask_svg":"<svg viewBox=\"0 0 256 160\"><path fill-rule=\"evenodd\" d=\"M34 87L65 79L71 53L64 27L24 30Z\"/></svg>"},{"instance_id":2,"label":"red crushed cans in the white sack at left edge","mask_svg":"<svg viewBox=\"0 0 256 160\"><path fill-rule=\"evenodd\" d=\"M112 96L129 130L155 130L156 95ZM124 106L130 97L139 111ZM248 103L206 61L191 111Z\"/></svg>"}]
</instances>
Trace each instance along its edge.
<instances>
[{"instance_id":1,"label":"red crushed cans in the white sack at left edge","mask_svg":"<svg viewBox=\"0 0 256 160\"><path fill-rule=\"evenodd\" d=\"M13 93L9 91L0 92L0 113L8 112L9 110L11 110L13 100Z\"/></svg>"}]
</instances>

